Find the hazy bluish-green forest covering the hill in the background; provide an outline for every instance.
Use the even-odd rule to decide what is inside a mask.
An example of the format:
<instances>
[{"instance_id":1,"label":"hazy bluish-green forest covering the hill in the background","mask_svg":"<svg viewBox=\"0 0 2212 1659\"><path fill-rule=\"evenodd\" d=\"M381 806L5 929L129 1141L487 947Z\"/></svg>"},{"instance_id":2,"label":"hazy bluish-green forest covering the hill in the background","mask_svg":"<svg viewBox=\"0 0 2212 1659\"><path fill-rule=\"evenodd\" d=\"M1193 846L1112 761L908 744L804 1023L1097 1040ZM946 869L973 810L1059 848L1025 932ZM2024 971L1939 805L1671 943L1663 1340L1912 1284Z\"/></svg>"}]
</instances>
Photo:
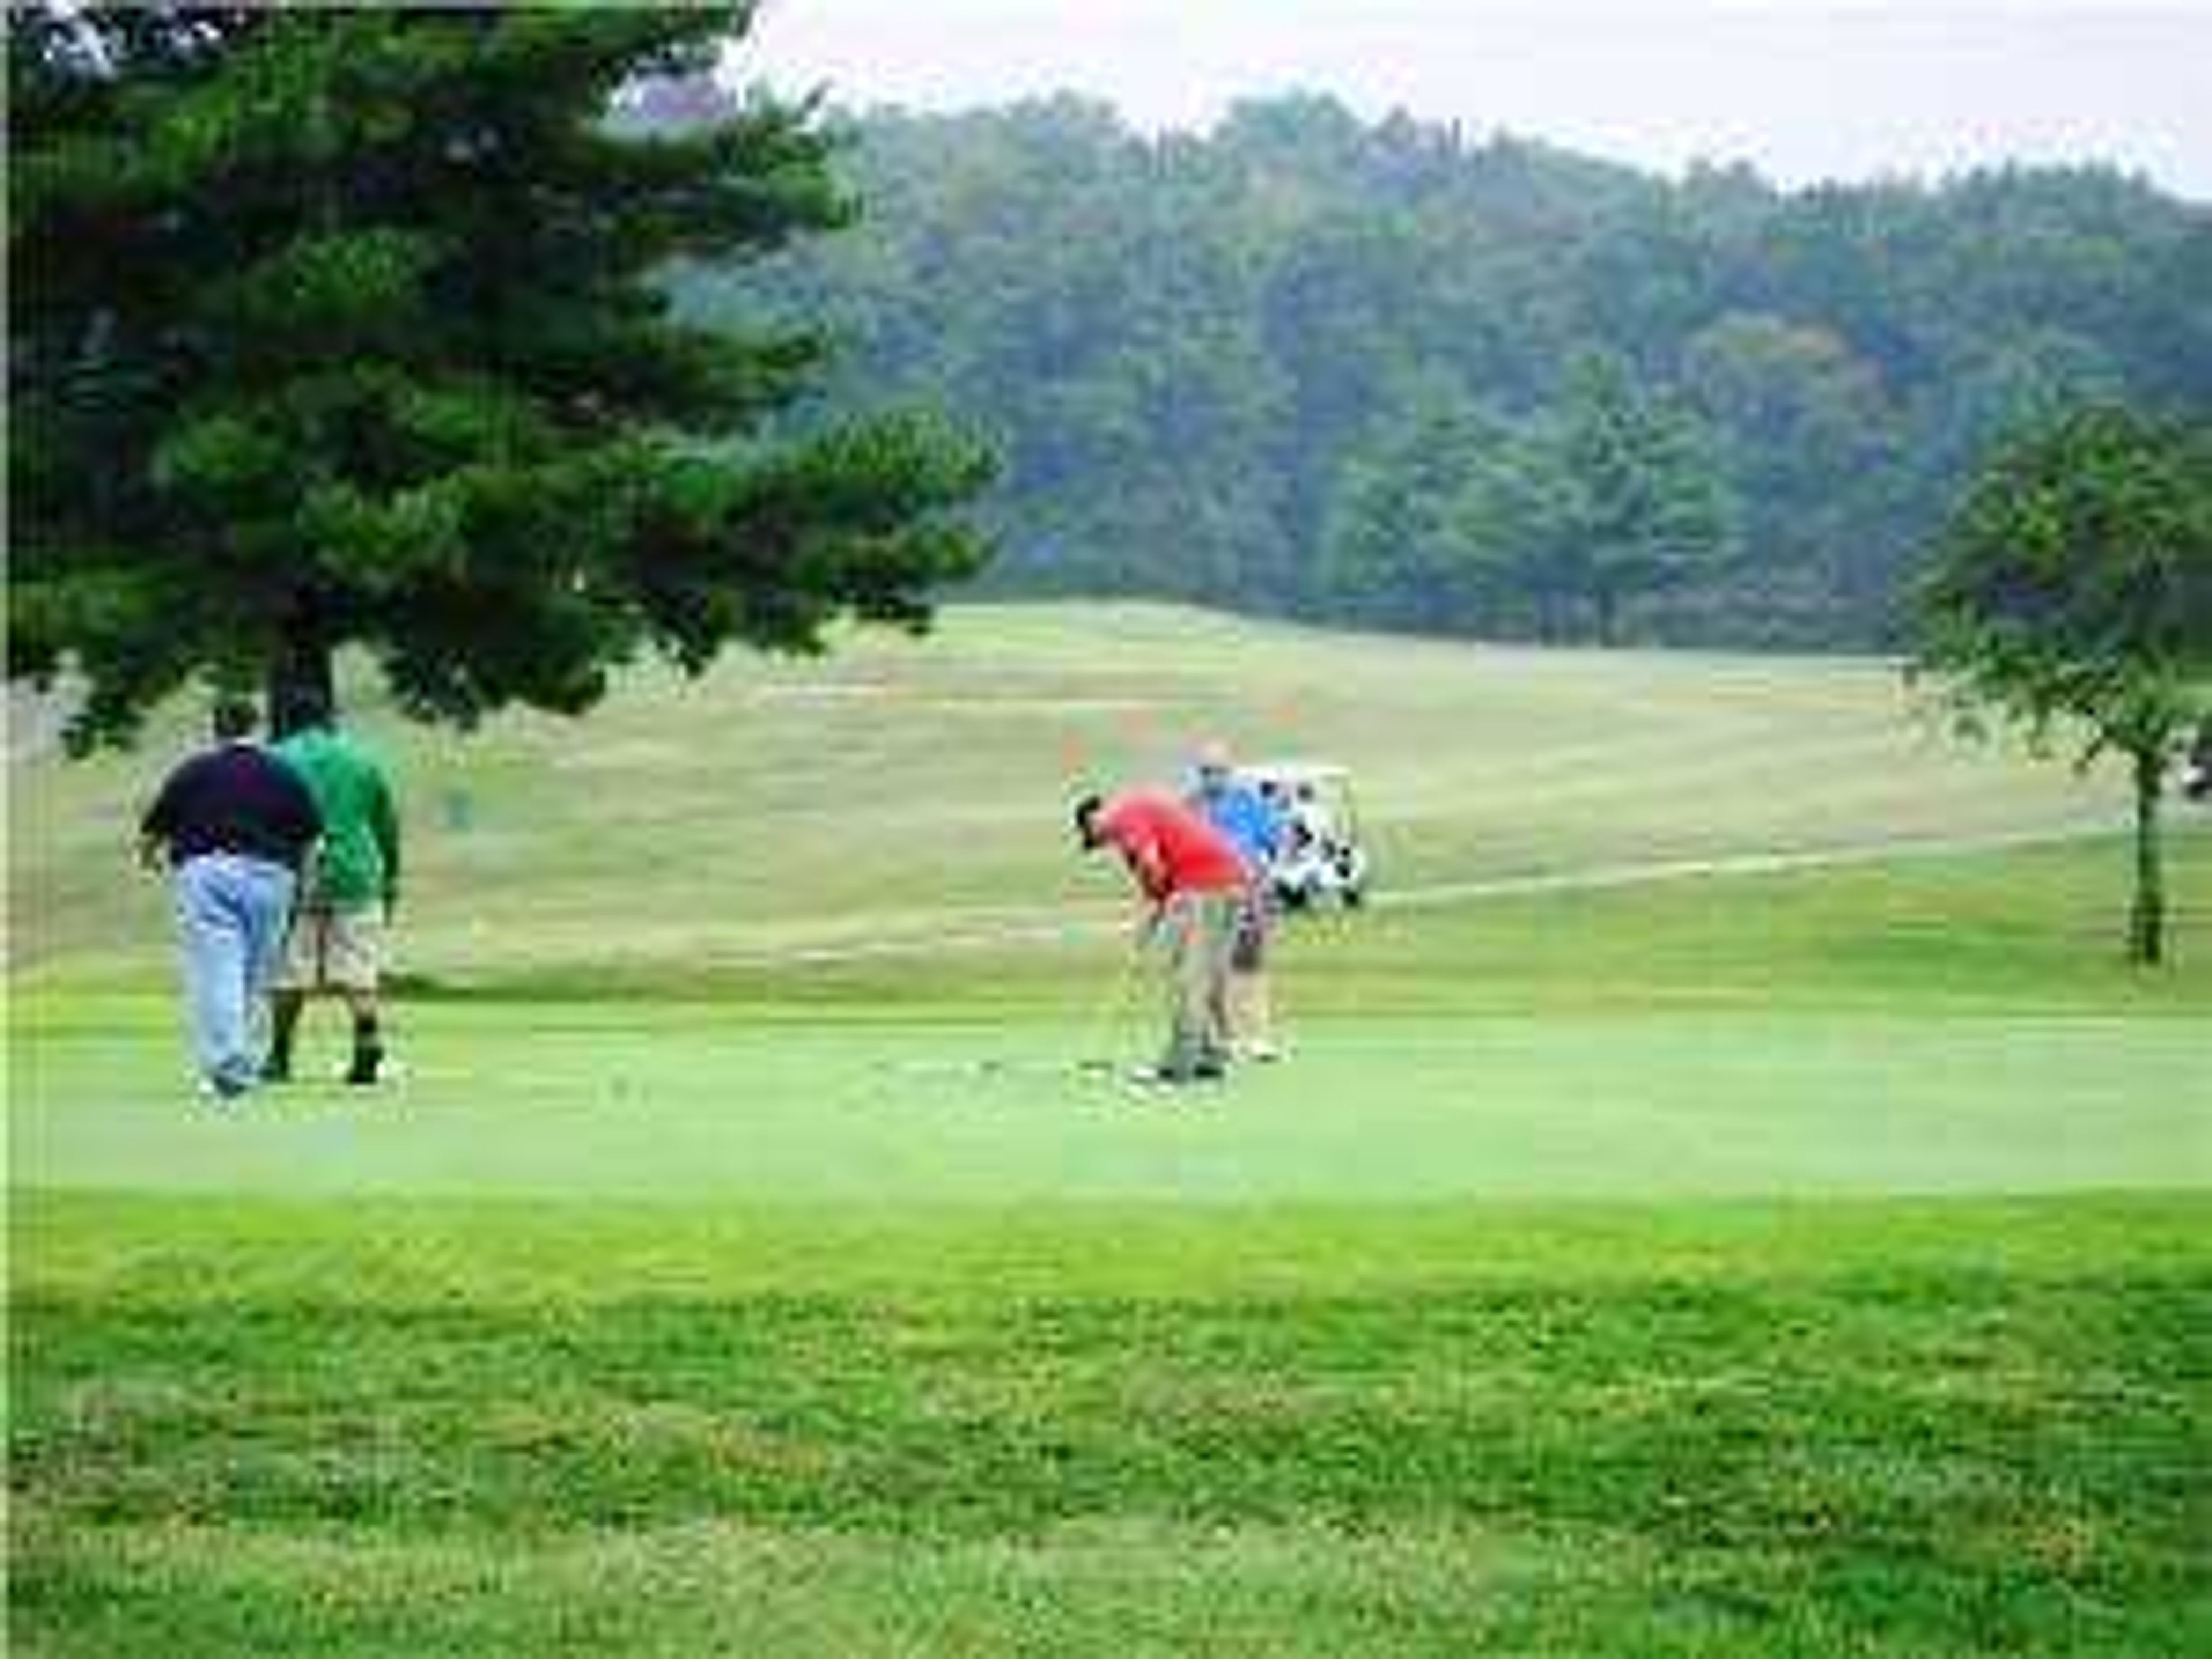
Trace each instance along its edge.
<instances>
[{"instance_id":1,"label":"hazy bluish-green forest covering the hill in the background","mask_svg":"<svg viewBox=\"0 0 2212 1659\"><path fill-rule=\"evenodd\" d=\"M2106 168L1785 192L1298 95L874 113L847 177L856 228L679 299L982 431L998 593L1880 646L2000 434L2212 407L2212 212Z\"/></svg>"}]
</instances>

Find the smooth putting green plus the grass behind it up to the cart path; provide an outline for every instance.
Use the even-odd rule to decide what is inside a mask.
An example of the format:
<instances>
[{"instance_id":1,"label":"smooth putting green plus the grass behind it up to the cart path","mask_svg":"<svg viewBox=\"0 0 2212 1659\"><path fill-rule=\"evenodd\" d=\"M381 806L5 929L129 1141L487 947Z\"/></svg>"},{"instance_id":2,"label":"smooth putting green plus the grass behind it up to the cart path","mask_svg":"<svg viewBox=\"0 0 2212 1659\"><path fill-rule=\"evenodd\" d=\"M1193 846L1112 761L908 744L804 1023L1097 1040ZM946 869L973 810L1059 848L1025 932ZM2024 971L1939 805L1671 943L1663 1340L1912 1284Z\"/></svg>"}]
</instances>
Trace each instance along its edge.
<instances>
[{"instance_id":1,"label":"smooth putting green plus the grass behind it up to the cart path","mask_svg":"<svg viewBox=\"0 0 2212 1659\"><path fill-rule=\"evenodd\" d=\"M1079 1060L1110 938L405 1002L396 1091L210 1124L157 991L18 1000L18 1181L843 1203L2035 1192L2212 1175L2212 951L2112 949L2119 847L1380 909L1283 940L1294 1064L1194 1104ZM2177 887L2212 838L2177 847ZM1148 969L1152 971L1152 969ZM566 995L553 998L555 989ZM619 991L619 993L617 993ZM1102 995L1104 993L1104 995ZM1097 1020L1106 1009L1108 1020ZM303 1071L343 1062L310 1024Z\"/></svg>"}]
</instances>

